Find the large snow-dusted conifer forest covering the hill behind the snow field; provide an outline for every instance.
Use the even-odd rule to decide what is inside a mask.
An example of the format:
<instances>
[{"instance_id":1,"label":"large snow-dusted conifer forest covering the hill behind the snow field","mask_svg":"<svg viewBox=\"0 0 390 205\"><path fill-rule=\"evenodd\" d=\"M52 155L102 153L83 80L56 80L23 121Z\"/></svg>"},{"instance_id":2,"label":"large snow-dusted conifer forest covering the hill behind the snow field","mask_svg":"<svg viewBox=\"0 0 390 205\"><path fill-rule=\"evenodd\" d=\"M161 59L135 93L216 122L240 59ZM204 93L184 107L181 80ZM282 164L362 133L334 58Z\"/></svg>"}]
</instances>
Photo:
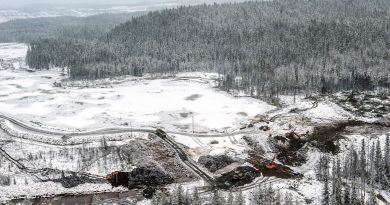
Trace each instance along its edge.
<instances>
[{"instance_id":1,"label":"large snow-dusted conifer forest covering the hill behind the snow field","mask_svg":"<svg viewBox=\"0 0 390 205\"><path fill-rule=\"evenodd\" d=\"M275 0L150 12L91 38L35 39L28 65L72 79L183 71L258 98L390 87L390 1Z\"/></svg>"}]
</instances>

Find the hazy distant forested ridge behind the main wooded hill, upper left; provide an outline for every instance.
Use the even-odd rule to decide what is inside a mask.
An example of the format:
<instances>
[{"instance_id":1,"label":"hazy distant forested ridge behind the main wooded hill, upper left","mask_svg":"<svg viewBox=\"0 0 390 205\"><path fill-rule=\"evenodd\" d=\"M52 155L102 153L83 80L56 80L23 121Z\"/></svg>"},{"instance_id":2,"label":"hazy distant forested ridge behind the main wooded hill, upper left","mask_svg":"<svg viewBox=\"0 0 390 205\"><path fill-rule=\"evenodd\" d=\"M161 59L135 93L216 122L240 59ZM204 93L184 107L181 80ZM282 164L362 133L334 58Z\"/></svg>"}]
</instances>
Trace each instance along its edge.
<instances>
[{"instance_id":1,"label":"hazy distant forested ridge behind the main wooded hill, upper left","mask_svg":"<svg viewBox=\"0 0 390 205\"><path fill-rule=\"evenodd\" d=\"M92 40L142 14L144 12L12 20L0 24L0 42L30 43L33 40L53 38Z\"/></svg>"}]
</instances>

